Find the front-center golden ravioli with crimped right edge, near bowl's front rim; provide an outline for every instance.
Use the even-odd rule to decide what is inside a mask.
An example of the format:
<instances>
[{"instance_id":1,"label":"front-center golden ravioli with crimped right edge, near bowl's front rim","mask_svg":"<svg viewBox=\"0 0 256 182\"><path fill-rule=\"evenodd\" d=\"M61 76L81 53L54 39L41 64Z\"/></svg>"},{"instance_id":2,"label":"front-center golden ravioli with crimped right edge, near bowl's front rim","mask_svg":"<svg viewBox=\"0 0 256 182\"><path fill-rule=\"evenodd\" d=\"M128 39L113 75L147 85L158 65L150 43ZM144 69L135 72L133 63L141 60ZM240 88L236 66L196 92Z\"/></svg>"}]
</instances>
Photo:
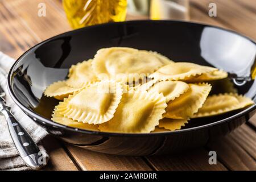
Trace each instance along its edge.
<instances>
[{"instance_id":1,"label":"front-center golden ravioli with crimped right edge, near bowl's front rim","mask_svg":"<svg viewBox=\"0 0 256 182\"><path fill-rule=\"evenodd\" d=\"M166 101L157 92L124 93L114 117L98 129L115 133L150 133L162 119Z\"/></svg>"}]
</instances>

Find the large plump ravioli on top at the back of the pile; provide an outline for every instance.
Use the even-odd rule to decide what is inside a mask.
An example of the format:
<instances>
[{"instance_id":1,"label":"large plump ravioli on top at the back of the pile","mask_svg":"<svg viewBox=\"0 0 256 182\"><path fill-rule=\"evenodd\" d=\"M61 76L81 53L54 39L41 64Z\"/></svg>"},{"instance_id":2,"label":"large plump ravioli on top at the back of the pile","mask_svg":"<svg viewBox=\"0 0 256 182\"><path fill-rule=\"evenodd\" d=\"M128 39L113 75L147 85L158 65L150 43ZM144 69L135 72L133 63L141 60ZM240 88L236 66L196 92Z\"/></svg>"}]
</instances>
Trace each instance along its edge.
<instances>
[{"instance_id":1,"label":"large plump ravioli on top at the back of the pile","mask_svg":"<svg viewBox=\"0 0 256 182\"><path fill-rule=\"evenodd\" d=\"M112 47L97 51L93 69L100 80L137 81L171 61L156 52L134 48Z\"/></svg>"}]
</instances>

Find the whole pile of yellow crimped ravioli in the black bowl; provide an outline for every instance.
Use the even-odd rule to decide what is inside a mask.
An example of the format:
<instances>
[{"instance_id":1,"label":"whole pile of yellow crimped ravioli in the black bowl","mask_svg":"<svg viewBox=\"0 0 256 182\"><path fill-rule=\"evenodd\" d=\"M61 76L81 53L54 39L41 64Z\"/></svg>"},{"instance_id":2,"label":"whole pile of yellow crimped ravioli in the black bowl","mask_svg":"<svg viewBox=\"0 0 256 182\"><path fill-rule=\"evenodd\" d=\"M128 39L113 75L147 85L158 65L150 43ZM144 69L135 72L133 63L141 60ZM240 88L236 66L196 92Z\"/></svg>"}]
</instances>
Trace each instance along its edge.
<instances>
[{"instance_id":1,"label":"whole pile of yellow crimped ravioli in the black bowl","mask_svg":"<svg viewBox=\"0 0 256 182\"><path fill-rule=\"evenodd\" d=\"M212 82L227 77L220 69L175 63L157 52L112 47L72 65L67 80L53 82L44 94L60 100L52 121L62 125L113 133L166 132L182 129L191 118L254 104L233 92L210 94Z\"/></svg>"}]
</instances>

